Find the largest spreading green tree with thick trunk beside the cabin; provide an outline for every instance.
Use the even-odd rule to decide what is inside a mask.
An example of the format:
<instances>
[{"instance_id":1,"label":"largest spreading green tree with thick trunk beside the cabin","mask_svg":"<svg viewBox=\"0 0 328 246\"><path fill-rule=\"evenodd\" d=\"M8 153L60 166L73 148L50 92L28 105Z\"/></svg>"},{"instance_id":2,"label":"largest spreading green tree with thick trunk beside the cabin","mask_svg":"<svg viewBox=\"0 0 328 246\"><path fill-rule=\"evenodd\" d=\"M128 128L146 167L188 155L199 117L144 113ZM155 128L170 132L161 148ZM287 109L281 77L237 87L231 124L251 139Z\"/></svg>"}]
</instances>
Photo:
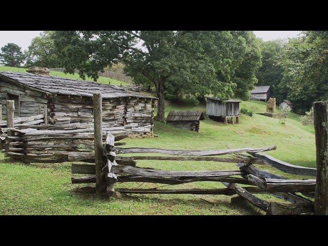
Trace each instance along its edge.
<instances>
[{"instance_id":1,"label":"largest spreading green tree with thick trunk beside the cabin","mask_svg":"<svg viewBox=\"0 0 328 246\"><path fill-rule=\"evenodd\" d=\"M156 87L160 121L167 92L194 99L213 94L226 100L234 91L243 95L242 88L253 87L260 62L248 32L60 31L54 44L66 71L79 69L81 77L97 79L99 70L123 61L135 80ZM251 72L238 67L248 65L247 60Z\"/></svg>"}]
</instances>

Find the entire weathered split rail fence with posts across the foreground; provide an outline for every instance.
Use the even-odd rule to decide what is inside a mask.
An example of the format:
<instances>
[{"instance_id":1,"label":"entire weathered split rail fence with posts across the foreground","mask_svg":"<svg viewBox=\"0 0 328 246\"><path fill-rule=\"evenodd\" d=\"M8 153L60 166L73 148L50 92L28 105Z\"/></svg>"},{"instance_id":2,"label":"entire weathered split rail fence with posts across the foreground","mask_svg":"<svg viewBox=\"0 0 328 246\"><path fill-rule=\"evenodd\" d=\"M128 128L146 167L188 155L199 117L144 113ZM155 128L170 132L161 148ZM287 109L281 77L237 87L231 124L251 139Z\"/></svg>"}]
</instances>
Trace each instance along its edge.
<instances>
[{"instance_id":1,"label":"entire weathered split rail fence with posts across the foreground","mask_svg":"<svg viewBox=\"0 0 328 246\"><path fill-rule=\"evenodd\" d=\"M327 214L327 103L315 104L317 167L291 165L260 152L275 150L241 148L228 150L166 150L156 148L121 148L116 142L128 137L126 132L107 131L102 127L101 94L93 96L94 128L78 126L14 125L13 112L7 112L7 127L2 128L3 151L13 160L26 162L83 161L95 163L72 164L72 183L96 183L97 194L213 194L235 195L265 211L267 214ZM11 110L11 107L7 107ZM11 116L12 115L12 116ZM33 116L32 116L33 117ZM36 116L34 116L36 117ZM40 117L40 116L38 116ZM31 120L31 119L30 119ZM22 121L19 121L22 122ZM325 124L322 124L325 122ZM3 123L2 123L3 124ZM105 140L105 145L103 144ZM247 154L241 154L245 152ZM159 153L163 156L118 156L119 154ZM226 155L226 156L222 156ZM228 156L227 156L228 155ZM137 160L218 161L237 163L236 170L163 171L136 166ZM320 162L321 165L318 165ZM325 164L325 165L324 165ZM288 179L261 170L254 165L270 165L285 173L317 176L313 179ZM324 174L324 175L321 175ZM217 181L222 189L115 189L117 182L151 182L179 185L195 181ZM316 182L317 181L317 182ZM242 187L241 185L248 185ZM253 194L267 193L284 202L269 202ZM314 201L313 201L313 198ZM233 201L234 199L232 199Z\"/></svg>"}]
</instances>

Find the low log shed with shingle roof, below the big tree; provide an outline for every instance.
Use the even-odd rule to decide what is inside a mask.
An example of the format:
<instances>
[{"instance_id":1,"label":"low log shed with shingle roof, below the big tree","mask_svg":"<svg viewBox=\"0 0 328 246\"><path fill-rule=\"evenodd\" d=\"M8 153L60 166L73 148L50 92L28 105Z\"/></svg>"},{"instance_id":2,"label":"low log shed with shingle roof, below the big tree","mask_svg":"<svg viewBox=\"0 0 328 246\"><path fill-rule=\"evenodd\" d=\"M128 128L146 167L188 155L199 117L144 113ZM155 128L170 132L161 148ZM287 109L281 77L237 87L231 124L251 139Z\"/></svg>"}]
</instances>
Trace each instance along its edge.
<instances>
[{"instance_id":1,"label":"low log shed with shingle roof, below the big tree","mask_svg":"<svg viewBox=\"0 0 328 246\"><path fill-rule=\"evenodd\" d=\"M203 119L202 111L170 111L166 122L177 128L199 132L199 120Z\"/></svg>"}]
</instances>

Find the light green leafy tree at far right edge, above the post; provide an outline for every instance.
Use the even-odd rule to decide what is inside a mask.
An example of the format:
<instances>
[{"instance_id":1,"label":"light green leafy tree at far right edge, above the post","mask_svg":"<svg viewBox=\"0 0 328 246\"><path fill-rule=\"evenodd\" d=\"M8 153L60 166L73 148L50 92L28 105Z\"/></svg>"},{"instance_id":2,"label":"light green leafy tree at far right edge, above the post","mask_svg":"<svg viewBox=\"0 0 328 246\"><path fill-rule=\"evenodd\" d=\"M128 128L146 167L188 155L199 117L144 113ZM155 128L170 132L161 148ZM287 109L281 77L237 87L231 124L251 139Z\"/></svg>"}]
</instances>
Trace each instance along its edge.
<instances>
[{"instance_id":1,"label":"light green leafy tree at far right edge, above the post","mask_svg":"<svg viewBox=\"0 0 328 246\"><path fill-rule=\"evenodd\" d=\"M279 99L290 99L301 112L314 101L328 100L328 31L306 31L289 40L279 64Z\"/></svg>"}]
</instances>

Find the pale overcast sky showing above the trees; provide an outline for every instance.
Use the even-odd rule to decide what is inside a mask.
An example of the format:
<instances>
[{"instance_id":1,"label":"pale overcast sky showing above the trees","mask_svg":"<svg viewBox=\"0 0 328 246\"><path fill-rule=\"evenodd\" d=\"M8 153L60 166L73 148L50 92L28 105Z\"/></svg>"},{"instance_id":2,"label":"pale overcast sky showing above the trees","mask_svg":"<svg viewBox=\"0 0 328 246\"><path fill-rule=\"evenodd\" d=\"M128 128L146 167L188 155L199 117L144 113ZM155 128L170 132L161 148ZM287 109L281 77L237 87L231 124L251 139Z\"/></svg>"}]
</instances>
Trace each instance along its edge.
<instances>
[{"instance_id":1,"label":"pale overcast sky showing above the trees","mask_svg":"<svg viewBox=\"0 0 328 246\"><path fill-rule=\"evenodd\" d=\"M15 43L26 50L31 44L33 37L41 31L0 31L0 48L8 43ZM257 37L264 41L277 38L296 37L300 31L254 31Z\"/></svg>"}]
</instances>

